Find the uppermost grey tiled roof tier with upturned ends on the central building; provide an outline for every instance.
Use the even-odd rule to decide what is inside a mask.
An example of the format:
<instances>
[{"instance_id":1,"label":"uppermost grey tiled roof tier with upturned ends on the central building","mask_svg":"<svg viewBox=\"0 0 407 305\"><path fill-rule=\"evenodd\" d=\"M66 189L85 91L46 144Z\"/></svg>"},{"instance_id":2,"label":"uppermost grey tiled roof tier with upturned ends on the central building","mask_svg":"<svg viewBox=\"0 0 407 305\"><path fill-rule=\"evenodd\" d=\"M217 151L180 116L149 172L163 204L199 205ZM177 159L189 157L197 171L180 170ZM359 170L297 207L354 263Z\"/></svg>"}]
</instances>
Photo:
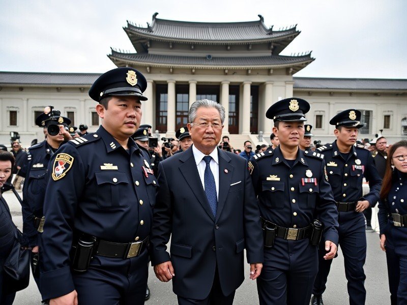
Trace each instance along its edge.
<instances>
[{"instance_id":1,"label":"uppermost grey tiled roof tier with upturned ends on the central building","mask_svg":"<svg viewBox=\"0 0 407 305\"><path fill-rule=\"evenodd\" d=\"M127 21L124 29L130 39L136 36L168 42L236 44L294 39L300 34L296 25L282 31L273 31L273 27L266 27L260 15L260 20L248 22L188 22L159 19L155 17L156 14L153 15L153 22L147 23L147 27L136 26Z\"/></svg>"}]
</instances>

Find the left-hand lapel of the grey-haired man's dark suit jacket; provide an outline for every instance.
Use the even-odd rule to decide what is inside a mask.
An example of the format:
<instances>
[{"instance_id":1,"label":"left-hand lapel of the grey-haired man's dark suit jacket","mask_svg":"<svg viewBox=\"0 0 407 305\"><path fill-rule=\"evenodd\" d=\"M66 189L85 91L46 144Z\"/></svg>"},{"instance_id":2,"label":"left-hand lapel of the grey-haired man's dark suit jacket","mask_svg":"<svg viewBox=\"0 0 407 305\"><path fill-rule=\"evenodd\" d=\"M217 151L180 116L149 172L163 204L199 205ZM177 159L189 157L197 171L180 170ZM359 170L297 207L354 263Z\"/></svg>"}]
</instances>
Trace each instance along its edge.
<instances>
[{"instance_id":1,"label":"left-hand lapel of the grey-haired man's dark suit jacket","mask_svg":"<svg viewBox=\"0 0 407 305\"><path fill-rule=\"evenodd\" d=\"M215 221L215 217L213 216L211 207L209 206L207 195L205 194L205 191L203 191L202 182L200 180L195 158L192 153L192 146L182 153L180 161L182 162L179 167L181 174L184 176L200 205L202 205L209 217Z\"/></svg>"}]
</instances>

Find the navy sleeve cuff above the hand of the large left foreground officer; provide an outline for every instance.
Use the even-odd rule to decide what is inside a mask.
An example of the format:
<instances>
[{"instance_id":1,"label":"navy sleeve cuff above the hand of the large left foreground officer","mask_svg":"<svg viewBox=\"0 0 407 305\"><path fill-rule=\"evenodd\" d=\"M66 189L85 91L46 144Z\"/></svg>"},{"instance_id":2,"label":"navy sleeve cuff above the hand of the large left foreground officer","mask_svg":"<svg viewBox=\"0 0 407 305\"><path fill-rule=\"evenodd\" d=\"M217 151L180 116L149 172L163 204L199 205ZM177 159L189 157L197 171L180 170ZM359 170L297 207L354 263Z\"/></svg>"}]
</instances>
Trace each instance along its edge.
<instances>
[{"instance_id":1,"label":"navy sleeve cuff above the hand of the large left foreground officer","mask_svg":"<svg viewBox=\"0 0 407 305\"><path fill-rule=\"evenodd\" d=\"M43 300L60 297L75 290L69 266L41 273L40 283Z\"/></svg>"}]
</instances>

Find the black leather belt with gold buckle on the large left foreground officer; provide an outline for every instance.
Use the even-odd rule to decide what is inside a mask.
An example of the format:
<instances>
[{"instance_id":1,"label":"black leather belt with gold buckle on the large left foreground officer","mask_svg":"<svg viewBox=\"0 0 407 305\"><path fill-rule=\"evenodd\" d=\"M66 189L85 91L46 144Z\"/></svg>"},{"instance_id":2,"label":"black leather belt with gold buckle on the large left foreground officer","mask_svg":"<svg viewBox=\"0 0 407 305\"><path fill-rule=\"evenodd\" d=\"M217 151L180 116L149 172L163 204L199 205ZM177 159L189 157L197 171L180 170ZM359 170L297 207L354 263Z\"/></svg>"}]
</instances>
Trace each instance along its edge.
<instances>
[{"instance_id":1,"label":"black leather belt with gold buckle on the large left foreground officer","mask_svg":"<svg viewBox=\"0 0 407 305\"><path fill-rule=\"evenodd\" d=\"M144 240L128 243L111 242L99 239L97 240L95 255L112 258L132 258L139 256L141 250L147 246L148 242L149 237L146 237Z\"/></svg>"}]
</instances>

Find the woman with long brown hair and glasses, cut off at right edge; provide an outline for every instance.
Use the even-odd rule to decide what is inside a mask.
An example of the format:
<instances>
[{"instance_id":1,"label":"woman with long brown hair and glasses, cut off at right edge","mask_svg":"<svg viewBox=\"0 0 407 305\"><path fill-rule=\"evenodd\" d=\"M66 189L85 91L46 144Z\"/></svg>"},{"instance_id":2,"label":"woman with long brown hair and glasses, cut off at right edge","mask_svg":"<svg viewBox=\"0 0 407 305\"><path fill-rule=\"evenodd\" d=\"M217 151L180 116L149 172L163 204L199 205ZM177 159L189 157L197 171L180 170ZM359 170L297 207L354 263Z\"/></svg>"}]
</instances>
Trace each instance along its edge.
<instances>
[{"instance_id":1,"label":"woman with long brown hair and glasses, cut off at right edge","mask_svg":"<svg viewBox=\"0 0 407 305\"><path fill-rule=\"evenodd\" d=\"M395 143L389 151L378 217L380 247L386 251L391 304L407 304L406 140Z\"/></svg>"}]
</instances>

